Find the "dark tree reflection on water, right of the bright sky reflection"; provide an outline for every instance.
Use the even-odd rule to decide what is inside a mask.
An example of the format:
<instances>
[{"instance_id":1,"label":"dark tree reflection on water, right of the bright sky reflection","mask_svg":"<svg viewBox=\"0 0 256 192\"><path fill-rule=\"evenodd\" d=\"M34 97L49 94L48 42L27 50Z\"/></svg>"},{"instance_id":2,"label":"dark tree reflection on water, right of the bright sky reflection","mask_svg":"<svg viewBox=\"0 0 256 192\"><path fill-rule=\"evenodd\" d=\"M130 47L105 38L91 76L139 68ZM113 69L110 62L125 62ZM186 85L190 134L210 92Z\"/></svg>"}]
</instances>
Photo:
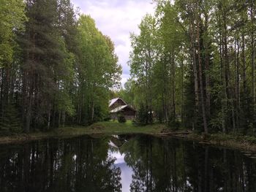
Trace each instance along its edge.
<instances>
[{"instance_id":1,"label":"dark tree reflection on water, right of the bright sky reflection","mask_svg":"<svg viewBox=\"0 0 256 192\"><path fill-rule=\"evenodd\" d=\"M238 151L136 136L121 153L133 169L130 191L255 191L255 161Z\"/></svg>"}]
</instances>

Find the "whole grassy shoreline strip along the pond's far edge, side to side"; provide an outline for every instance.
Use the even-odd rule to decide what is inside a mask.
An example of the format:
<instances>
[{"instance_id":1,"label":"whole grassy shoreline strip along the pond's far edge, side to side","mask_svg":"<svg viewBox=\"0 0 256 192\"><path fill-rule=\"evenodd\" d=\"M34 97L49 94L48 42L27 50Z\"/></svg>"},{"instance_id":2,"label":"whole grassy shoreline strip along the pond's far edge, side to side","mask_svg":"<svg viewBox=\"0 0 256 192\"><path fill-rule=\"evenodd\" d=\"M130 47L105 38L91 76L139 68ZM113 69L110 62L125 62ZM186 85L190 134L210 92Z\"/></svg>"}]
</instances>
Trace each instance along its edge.
<instances>
[{"instance_id":1,"label":"whole grassy shoreline strip along the pond's far edge, side to side","mask_svg":"<svg viewBox=\"0 0 256 192\"><path fill-rule=\"evenodd\" d=\"M121 126L121 127L120 127ZM31 134L15 134L1 136L0 145L19 144L42 139L65 139L84 135L110 135L110 134L148 134L154 137L173 137L198 142L201 145L214 147L226 147L233 150L246 150L256 153L256 137L236 136L230 134L211 134L203 139L200 134L192 131L167 131L164 125L154 124L150 126L132 126L120 123L95 123L88 127L58 128L48 132L37 132Z\"/></svg>"}]
</instances>

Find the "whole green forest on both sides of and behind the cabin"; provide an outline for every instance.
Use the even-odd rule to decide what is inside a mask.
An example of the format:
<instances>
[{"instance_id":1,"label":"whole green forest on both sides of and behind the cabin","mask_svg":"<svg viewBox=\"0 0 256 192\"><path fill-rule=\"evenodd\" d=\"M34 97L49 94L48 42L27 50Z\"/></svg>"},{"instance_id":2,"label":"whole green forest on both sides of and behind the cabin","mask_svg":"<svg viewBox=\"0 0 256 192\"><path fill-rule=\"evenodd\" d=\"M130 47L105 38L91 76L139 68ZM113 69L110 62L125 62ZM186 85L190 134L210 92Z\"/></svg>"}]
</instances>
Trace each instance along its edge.
<instances>
[{"instance_id":1,"label":"whole green forest on both sides of and behind the cabin","mask_svg":"<svg viewBox=\"0 0 256 192\"><path fill-rule=\"evenodd\" d=\"M153 4L130 35L119 89L113 41L70 0L0 0L0 130L90 125L121 96L143 125L254 135L255 1Z\"/></svg>"}]
</instances>

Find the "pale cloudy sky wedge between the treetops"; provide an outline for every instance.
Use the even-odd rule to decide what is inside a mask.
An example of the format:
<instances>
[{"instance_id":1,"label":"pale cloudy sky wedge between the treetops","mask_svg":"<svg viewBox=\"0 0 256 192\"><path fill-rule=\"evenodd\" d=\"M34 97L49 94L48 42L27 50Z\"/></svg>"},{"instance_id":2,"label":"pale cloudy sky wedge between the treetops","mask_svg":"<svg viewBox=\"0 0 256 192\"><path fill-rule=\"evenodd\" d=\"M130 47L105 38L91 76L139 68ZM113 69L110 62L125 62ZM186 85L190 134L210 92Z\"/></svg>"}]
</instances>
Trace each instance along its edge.
<instances>
[{"instance_id":1,"label":"pale cloudy sky wedge between the treetops","mask_svg":"<svg viewBox=\"0 0 256 192\"><path fill-rule=\"evenodd\" d=\"M152 0L72 0L80 12L91 15L97 28L114 42L118 63L123 68L121 84L129 78L130 33L139 34L138 25L146 13L154 13Z\"/></svg>"}]
</instances>

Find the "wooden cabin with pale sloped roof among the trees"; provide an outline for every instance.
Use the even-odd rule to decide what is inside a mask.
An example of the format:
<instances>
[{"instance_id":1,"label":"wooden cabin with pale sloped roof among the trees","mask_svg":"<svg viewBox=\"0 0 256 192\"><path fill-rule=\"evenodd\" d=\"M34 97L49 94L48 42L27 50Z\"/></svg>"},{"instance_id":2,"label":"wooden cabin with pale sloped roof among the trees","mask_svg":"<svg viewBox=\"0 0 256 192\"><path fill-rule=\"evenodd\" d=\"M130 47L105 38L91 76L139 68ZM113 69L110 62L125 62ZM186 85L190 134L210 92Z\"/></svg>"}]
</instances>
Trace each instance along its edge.
<instances>
[{"instance_id":1,"label":"wooden cabin with pale sloped roof among the trees","mask_svg":"<svg viewBox=\"0 0 256 192\"><path fill-rule=\"evenodd\" d=\"M135 119L136 110L121 98L110 100L109 108L112 119L116 119L118 115L124 116L127 120Z\"/></svg>"}]
</instances>

